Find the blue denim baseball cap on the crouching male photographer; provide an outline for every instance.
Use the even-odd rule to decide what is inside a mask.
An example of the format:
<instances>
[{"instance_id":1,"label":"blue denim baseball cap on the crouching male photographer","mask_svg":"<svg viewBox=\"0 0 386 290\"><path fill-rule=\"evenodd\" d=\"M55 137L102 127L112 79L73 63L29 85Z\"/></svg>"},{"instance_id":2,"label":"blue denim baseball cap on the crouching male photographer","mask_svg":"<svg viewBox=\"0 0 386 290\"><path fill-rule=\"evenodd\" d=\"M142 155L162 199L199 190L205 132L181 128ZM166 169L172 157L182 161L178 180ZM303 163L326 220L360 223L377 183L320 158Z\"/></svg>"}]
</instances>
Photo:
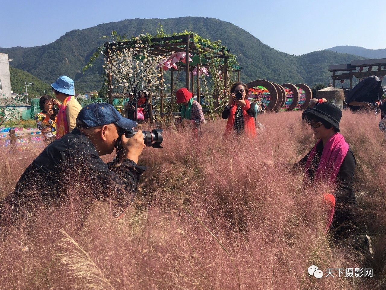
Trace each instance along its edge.
<instances>
[{"instance_id":1,"label":"blue denim baseball cap on the crouching male photographer","mask_svg":"<svg viewBox=\"0 0 386 290\"><path fill-rule=\"evenodd\" d=\"M76 118L76 127L90 128L108 124L115 124L122 129L132 130L137 126L135 121L126 119L108 103L92 103L84 106Z\"/></svg>"}]
</instances>

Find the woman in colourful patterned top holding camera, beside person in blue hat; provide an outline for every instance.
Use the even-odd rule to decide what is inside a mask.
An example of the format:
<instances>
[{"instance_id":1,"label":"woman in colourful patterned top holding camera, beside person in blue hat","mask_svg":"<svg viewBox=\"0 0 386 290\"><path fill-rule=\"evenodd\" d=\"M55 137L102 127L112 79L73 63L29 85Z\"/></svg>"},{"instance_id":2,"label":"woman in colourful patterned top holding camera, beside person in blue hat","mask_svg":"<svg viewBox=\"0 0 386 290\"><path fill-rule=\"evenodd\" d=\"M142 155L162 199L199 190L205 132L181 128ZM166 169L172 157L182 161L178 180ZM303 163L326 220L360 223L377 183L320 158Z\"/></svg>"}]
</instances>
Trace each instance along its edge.
<instances>
[{"instance_id":1,"label":"woman in colourful patterned top holding camera, beside person in blue hat","mask_svg":"<svg viewBox=\"0 0 386 290\"><path fill-rule=\"evenodd\" d=\"M42 111L35 116L37 128L42 131L44 140L49 143L56 138L56 115L58 110L54 110L54 104L60 106L60 102L51 96L40 97L39 106Z\"/></svg>"}]
</instances>

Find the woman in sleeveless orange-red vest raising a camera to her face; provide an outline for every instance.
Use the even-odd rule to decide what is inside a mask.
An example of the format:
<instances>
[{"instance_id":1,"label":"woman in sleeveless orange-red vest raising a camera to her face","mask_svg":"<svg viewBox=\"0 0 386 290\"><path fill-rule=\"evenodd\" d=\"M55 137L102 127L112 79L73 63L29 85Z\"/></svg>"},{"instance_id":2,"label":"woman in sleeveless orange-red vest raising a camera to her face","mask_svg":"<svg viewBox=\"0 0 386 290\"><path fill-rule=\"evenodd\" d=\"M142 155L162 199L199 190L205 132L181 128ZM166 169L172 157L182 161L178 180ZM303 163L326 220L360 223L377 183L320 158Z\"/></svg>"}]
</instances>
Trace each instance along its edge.
<instances>
[{"instance_id":1,"label":"woman in sleeveless orange-red vest raising a camera to her face","mask_svg":"<svg viewBox=\"0 0 386 290\"><path fill-rule=\"evenodd\" d=\"M228 105L221 114L223 119L228 119L225 134L234 132L256 136L255 109L250 105L247 94L248 86L241 82L233 84L230 88Z\"/></svg>"}]
</instances>

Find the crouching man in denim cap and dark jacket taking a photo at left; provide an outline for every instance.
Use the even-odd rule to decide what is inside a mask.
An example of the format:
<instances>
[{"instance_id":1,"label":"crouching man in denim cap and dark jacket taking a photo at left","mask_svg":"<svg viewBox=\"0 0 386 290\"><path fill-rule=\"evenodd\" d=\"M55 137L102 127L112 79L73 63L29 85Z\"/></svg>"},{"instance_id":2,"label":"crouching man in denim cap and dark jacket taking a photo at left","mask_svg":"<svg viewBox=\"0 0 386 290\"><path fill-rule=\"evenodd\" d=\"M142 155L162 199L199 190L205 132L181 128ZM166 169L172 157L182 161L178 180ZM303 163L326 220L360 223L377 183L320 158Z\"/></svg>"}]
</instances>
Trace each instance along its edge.
<instances>
[{"instance_id":1,"label":"crouching man in denim cap and dark jacket taking a photo at left","mask_svg":"<svg viewBox=\"0 0 386 290\"><path fill-rule=\"evenodd\" d=\"M123 118L111 104L85 106L78 114L76 128L50 143L27 167L15 191L5 198L5 206L19 213L33 210L42 203L60 205L69 194L63 189L75 176L93 188L88 196L83 189L79 191L82 201L86 204L93 200L113 201L115 213L119 213L129 204L139 176L146 169L137 165L145 148L142 131L131 138L123 134L136 125ZM112 154L118 145L122 149L118 150L117 157L105 164L100 156Z\"/></svg>"}]
</instances>

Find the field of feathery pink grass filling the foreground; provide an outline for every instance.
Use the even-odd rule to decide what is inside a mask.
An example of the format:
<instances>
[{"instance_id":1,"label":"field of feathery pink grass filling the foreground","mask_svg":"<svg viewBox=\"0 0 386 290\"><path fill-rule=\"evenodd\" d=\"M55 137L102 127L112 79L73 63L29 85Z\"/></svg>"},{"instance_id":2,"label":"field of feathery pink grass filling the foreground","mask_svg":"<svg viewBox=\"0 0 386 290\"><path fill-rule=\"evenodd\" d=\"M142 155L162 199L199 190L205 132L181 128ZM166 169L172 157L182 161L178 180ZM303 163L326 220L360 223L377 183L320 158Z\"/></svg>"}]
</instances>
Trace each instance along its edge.
<instances>
[{"instance_id":1,"label":"field of feathery pink grass filling the foreground","mask_svg":"<svg viewBox=\"0 0 386 290\"><path fill-rule=\"evenodd\" d=\"M386 157L379 119L344 111L340 126L357 160L354 188L377 253L366 265L374 278L317 279L308 266L364 266L350 249L330 246L323 192L303 187L302 173L289 165L316 142L300 114L259 116L266 131L256 140L226 140L220 119L202 126L200 140L190 130L165 131L163 149L142 153L139 163L149 169L120 220L100 202L81 217L78 196L93 185L71 184L61 208L42 206L10 229L0 246L1 288L383 289ZM0 150L2 160L12 159ZM39 150L2 161L1 196Z\"/></svg>"}]
</instances>

